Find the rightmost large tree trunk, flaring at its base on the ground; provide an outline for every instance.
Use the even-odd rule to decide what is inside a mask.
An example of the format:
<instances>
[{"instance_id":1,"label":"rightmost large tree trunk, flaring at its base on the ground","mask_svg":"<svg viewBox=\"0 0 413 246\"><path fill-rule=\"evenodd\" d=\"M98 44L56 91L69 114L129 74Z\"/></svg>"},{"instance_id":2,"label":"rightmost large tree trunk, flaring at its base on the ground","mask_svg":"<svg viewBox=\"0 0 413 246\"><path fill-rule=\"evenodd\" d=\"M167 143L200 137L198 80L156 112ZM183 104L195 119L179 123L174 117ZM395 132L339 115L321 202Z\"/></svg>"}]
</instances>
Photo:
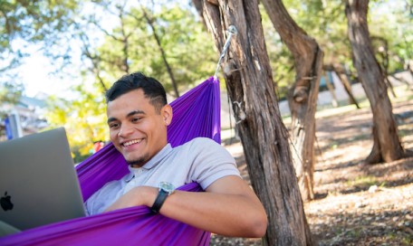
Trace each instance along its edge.
<instances>
[{"instance_id":1,"label":"rightmost large tree trunk, flaring at its base on the ground","mask_svg":"<svg viewBox=\"0 0 413 246\"><path fill-rule=\"evenodd\" d=\"M369 0L347 0L346 16L353 63L370 101L373 115L373 148L368 163L391 162L404 156L398 127L379 62L374 56L367 24Z\"/></svg>"}]
</instances>

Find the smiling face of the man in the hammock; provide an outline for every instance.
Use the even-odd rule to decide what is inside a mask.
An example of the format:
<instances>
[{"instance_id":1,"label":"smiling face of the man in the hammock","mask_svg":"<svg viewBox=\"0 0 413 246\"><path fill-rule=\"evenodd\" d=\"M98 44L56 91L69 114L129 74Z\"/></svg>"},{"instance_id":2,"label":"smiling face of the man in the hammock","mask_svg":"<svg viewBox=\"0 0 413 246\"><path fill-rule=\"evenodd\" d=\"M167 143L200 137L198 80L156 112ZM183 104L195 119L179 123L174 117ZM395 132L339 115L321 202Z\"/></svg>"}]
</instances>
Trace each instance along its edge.
<instances>
[{"instance_id":1,"label":"smiling face of the man in the hammock","mask_svg":"<svg viewBox=\"0 0 413 246\"><path fill-rule=\"evenodd\" d=\"M132 90L108 103L110 140L132 166L143 166L168 144L167 127L172 109L160 112L145 98L143 90Z\"/></svg>"}]
</instances>

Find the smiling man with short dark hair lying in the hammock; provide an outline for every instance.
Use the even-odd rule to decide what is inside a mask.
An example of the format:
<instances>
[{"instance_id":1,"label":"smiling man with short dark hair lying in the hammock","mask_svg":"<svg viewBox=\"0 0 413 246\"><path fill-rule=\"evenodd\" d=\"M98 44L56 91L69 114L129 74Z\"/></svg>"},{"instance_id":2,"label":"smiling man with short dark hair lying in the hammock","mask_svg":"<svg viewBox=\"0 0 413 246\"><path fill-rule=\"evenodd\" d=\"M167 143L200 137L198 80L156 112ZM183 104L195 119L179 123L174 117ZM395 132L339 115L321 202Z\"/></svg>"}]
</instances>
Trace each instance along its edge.
<instances>
[{"instance_id":1,"label":"smiling man with short dark hair lying in the hammock","mask_svg":"<svg viewBox=\"0 0 413 246\"><path fill-rule=\"evenodd\" d=\"M172 109L158 80L126 75L107 91L106 100L110 140L129 163L130 174L93 194L85 203L90 214L146 205L207 232L264 235L264 207L225 148L205 137L180 147L168 144ZM206 192L174 191L192 182Z\"/></svg>"}]
</instances>

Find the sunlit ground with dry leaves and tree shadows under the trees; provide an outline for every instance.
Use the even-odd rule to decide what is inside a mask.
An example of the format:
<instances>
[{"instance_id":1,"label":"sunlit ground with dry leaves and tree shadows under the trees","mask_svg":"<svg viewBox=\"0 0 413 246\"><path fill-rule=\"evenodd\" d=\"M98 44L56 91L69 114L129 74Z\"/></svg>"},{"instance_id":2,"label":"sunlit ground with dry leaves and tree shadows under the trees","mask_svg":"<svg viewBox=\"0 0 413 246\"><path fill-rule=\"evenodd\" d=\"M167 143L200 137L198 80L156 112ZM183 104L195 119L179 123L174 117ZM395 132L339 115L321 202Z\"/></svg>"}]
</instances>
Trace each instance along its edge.
<instances>
[{"instance_id":1,"label":"sunlit ground with dry leaves and tree shadows under the trees","mask_svg":"<svg viewBox=\"0 0 413 246\"><path fill-rule=\"evenodd\" d=\"M408 88L404 90L408 91ZM399 137L413 150L412 93L392 99ZM367 165L372 147L369 107L317 112L315 199L304 203L318 245L413 245L413 157ZM248 181L241 144L226 148ZM211 245L261 245L260 240L213 235Z\"/></svg>"}]
</instances>

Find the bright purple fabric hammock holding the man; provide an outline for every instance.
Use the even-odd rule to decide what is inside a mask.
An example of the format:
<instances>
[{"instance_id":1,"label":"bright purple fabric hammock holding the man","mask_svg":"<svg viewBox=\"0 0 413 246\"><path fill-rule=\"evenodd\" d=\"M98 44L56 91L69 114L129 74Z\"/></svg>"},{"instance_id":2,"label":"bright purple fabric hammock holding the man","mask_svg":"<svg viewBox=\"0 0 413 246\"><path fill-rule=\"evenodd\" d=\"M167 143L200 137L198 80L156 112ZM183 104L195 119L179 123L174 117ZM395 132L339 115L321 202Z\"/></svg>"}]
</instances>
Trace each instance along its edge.
<instances>
[{"instance_id":1,"label":"bright purple fabric hammock holding the man","mask_svg":"<svg viewBox=\"0 0 413 246\"><path fill-rule=\"evenodd\" d=\"M170 105L174 116L168 127L168 141L172 147L194 137L221 142L219 81L215 77ZM84 160L76 170L84 201L102 185L129 172L123 156L112 144ZM202 192L197 183L178 189ZM0 245L116 245L125 241L128 245L209 245L210 232L150 213L146 206L136 206L16 233L0 238Z\"/></svg>"}]
</instances>

